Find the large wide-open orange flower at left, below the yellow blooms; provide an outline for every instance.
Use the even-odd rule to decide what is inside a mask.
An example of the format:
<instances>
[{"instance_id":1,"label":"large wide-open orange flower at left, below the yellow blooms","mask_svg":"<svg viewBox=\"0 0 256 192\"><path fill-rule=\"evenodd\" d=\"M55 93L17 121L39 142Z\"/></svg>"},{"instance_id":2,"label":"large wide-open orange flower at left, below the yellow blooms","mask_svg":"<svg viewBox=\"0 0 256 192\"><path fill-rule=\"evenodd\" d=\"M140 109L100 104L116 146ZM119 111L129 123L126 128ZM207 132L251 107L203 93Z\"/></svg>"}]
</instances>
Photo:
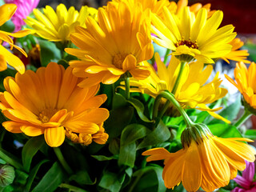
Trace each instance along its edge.
<instances>
[{"instance_id":1,"label":"large wide-open orange flower at left, below the yellow blooms","mask_svg":"<svg viewBox=\"0 0 256 192\"><path fill-rule=\"evenodd\" d=\"M34 137L44 134L46 143L62 145L65 134L97 134L109 111L99 108L106 95L95 96L99 86L78 87L81 80L72 68L51 62L36 73L26 70L4 80L6 91L0 94L0 109L10 121L2 126L12 133ZM72 139L71 139L72 140Z\"/></svg>"}]
</instances>

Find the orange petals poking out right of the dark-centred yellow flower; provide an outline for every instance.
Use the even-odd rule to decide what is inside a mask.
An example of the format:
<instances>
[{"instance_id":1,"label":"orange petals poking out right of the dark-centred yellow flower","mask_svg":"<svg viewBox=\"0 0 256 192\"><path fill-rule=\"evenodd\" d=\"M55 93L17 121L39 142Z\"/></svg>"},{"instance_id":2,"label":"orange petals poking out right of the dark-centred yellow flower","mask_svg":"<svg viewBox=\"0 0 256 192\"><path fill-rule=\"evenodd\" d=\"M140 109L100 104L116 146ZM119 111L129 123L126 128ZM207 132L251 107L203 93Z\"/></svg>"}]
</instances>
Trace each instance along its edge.
<instances>
[{"instance_id":1,"label":"orange petals poking out right of the dark-centred yellow flower","mask_svg":"<svg viewBox=\"0 0 256 192\"><path fill-rule=\"evenodd\" d=\"M239 50L244 44L240 38L234 38L231 42L229 42L229 44L232 46L232 50L229 54L222 57L222 59L228 63L230 63L229 60L250 63L250 61L246 60L247 56L249 55L248 50Z\"/></svg>"}]
</instances>

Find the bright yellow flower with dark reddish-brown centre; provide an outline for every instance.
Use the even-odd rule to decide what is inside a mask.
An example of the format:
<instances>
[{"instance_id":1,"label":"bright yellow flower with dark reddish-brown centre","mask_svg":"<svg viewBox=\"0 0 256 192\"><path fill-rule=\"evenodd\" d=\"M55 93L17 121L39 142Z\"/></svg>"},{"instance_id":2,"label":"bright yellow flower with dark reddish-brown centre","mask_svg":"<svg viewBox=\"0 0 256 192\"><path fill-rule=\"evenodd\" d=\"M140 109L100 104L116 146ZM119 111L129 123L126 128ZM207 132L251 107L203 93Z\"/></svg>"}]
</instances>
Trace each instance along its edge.
<instances>
[{"instance_id":1,"label":"bright yellow flower with dark reddish-brown centre","mask_svg":"<svg viewBox=\"0 0 256 192\"><path fill-rule=\"evenodd\" d=\"M158 37L152 37L159 46L173 51L173 55L182 62L193 59L204 63L214 63L213 58L221 58L230 53L229 44L236 33L234 26L222 26L218 29L223 18L218 10L207 18L207 10L202 8L195 16L189 7L181 10L179 17L163 8L163 18L152 15L152 32Z\"/></svg>"}]
</instances>

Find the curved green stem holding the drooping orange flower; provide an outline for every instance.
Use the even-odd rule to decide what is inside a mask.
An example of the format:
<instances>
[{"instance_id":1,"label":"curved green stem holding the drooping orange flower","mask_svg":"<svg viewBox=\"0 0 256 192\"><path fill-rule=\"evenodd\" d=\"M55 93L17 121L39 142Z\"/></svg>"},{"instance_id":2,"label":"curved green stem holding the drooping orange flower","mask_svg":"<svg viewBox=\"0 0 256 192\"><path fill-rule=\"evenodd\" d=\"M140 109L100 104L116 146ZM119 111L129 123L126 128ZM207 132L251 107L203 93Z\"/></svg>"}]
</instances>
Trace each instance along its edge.
<instances>
[{"instance_id":1,"label":"curved green stem holding the drooping orange flower","mask_svg":"<svg viewBox=\"0 0 256 192\"><path fill-rule=\"evenodd\" d=\"M171 94L169 91L165 90L165 91L162 91L162 93L158 94L158 96L162 98L167 98L170 102L173 103L173 105L177 108L178 112L184 118L184 121L186 122L186 127L189 128L194 125L194 122L190 120L190 117L186 114L186 111L183 110L182 106L176 100L176 98L174 97L174 94Z\"/></svg>"}]
</instances>

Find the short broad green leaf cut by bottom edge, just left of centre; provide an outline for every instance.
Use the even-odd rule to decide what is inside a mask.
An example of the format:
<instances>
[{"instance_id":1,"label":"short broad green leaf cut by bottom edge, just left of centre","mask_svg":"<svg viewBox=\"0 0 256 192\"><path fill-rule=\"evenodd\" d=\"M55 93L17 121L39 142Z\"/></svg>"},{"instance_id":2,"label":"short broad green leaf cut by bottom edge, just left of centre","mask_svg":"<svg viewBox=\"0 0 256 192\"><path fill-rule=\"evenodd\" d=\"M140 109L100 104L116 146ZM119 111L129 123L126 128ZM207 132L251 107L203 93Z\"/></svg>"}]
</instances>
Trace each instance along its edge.
<instances>
[{"instance_id":1,"label":"short broad green leaf cut by bottom edge, just left of centre","mask_svg":"<svg viewBox=\"0 0 256 192\"><path fill-rule=\"evenodd\" d=\"M111 192L118 192L122 187L122 183L118 180L118 178L118 174L105 172L103 173L98 186L101 186L103 189L110 190Z\"/></svg>"}]
</instances>

